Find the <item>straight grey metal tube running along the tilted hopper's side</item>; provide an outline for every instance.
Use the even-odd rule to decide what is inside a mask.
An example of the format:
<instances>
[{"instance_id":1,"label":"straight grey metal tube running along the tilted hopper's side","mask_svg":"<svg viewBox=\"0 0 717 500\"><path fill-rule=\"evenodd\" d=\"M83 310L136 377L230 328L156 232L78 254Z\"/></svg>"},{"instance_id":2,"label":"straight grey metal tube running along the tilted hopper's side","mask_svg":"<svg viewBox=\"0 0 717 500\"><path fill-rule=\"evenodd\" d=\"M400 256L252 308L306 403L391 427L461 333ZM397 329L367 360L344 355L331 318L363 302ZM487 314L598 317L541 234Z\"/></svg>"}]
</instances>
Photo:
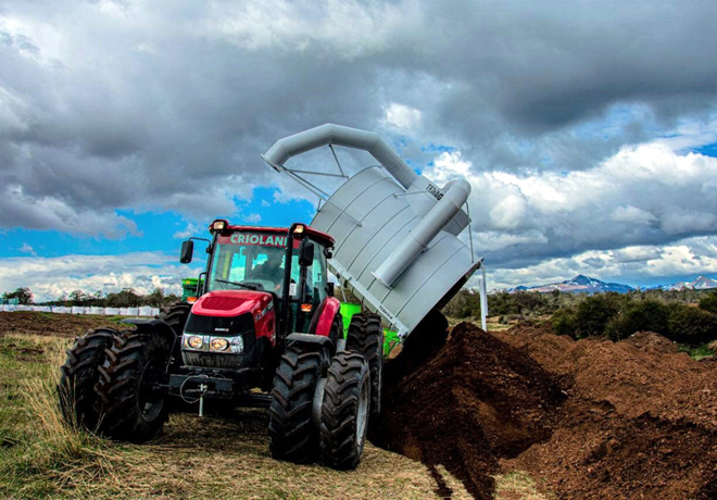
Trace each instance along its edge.
<instances>
[{"instance_id":1,"label":"straight grey metal tube running along the tilted hopper's side","mask_svg":"<svg viewBox=\"0 0 717 500\"><path fill-rule=\"evenodd\" d=\"M404 239L372 273L376 279L387 287L395 280L428 248L428 243L438 235L445 224L464 205L470 195L470 184L467 180L452 180L445 185L448 190L426 216L414 227Z\"/></svg>"}]
</instances>

